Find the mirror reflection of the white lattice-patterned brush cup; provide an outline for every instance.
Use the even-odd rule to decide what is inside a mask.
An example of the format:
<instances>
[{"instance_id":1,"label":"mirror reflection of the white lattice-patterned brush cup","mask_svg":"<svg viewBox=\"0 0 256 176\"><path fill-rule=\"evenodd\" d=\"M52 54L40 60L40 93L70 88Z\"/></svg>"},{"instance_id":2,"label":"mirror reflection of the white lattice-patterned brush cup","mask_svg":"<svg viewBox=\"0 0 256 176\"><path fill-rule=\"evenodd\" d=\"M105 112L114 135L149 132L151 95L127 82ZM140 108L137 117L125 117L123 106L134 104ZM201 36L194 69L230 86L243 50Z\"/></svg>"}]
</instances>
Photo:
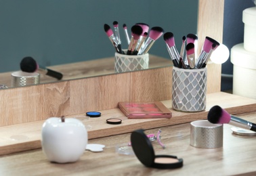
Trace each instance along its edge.
<instances>
[{"instance_id":1,"label":"mirror reflection of the white lattice-patterned brush cup","mask_svg":"<svg viewBox=\"0 0 256 176\"><path fill-rule=\"evenodd\" d=\"M144 70L148 68L148 62L148 53L142 55L125 55L121 53L115 53L114 71L118 73Z\"/></svg>"}]
</instances>

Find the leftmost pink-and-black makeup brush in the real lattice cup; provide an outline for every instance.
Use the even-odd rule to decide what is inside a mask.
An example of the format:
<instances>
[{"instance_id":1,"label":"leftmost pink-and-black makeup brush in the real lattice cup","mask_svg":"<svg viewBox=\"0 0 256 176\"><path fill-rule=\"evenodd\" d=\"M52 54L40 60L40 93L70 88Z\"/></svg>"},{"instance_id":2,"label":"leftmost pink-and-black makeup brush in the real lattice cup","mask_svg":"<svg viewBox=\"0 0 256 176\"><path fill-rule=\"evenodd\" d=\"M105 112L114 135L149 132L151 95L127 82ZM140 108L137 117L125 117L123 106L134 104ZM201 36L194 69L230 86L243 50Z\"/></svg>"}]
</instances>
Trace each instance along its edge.
<instances>
[{"instance_id":1,"label":"leftmost pink-and-black makeup brush in the real lattice cup","mask_svg":"<svg viewBox=\"0 0 256 176\"><path fill-rule=\"evenodd\" d=\"M166 43L167 50L169 52L169 56L173 61L173 66L179 67L179 53L177 48L175 47L175 40L172 32L165 32L163 38Z\"/></svg>"}]
</instances>

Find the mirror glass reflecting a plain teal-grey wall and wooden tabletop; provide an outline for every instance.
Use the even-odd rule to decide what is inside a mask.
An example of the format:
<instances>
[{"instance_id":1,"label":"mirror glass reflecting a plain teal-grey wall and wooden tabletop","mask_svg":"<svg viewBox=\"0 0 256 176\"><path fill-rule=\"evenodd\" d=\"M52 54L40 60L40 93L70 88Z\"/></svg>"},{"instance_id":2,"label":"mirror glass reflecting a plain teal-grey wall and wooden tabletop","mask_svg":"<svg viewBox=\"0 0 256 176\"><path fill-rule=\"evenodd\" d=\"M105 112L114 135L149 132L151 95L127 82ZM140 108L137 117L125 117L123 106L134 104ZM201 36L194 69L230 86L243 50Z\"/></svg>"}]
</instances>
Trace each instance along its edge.
<instances>
[{"instance_id":1,"label":"mirror glass reflecting a plain teal-grey wall and wooden tabletop","mask_svg":"<svg viewBox=\"0 0 256 176\"><path fill-rule=\"evenodd\" d=\"M10 72L20 70L20 61L25 56L61 72L71 70L65 80L114 73L114 48L103 28L105 23L112 26L114 20L119 22L123 48L127 48L123 24L127 24L130 34L133 24L144 22L173 32L179 49L184 35L196 33L198 1L4 0L0 12L0 84L6 85L11 79ZM149 53L168 61L163 37ZM109 61L108 72L102 72L105 68L97 70L100 64L106 65L102 61ZM167 63L157 62L154 66Z\"/></svg>"}]
</instances>

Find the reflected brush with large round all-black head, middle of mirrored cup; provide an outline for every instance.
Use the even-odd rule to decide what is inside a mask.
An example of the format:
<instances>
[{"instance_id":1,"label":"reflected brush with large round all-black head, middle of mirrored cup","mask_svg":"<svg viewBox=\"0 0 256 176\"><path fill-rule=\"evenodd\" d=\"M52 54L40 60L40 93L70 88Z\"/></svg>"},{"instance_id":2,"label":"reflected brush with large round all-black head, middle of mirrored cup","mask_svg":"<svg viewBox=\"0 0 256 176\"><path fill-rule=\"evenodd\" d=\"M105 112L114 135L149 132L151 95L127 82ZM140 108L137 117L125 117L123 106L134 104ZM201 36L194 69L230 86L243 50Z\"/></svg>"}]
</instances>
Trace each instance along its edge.
<instances>
[{"instance_id":1,"label":"reflected brush with large round all-black head, middle of mirrored cup","mask_svg":"<svg viewBox=\"0 0 256 176\"><path fill-rule=\"evenodd\" d=\"M127 55L132 55L133 51L135 51L135 47L137 46L137 41L140 39L142 32L143 32L143 29L141 26L134 25L131 27L131 41L127 50Z\"/></svg>"}]
</instances>

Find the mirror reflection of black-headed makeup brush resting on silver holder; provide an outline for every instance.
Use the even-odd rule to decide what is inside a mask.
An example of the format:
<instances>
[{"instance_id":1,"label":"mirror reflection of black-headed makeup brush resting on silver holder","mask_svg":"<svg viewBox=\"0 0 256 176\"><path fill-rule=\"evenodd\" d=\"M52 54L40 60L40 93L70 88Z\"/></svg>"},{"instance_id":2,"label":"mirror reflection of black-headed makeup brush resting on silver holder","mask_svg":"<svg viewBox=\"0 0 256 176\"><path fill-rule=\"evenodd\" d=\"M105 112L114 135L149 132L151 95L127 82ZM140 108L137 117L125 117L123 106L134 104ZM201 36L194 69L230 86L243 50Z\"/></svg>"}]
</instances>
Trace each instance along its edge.
<instances>
[{"instance_id":1,"label":"mirror reflection of black-headed makeup brush resting on silver holder","mask_svg":"<svg viewBox=\"0 0 256 176\"><path fill-rule=\"evenodd\" d=\"M20 62L20 69L22 70L22 72L36 72L38 70L58 80L62 79L63 76L60 72L56 72L54 70L50 70L49 68L39 66L39 64L37 64L37 62L29 56L22 59L22 61Z\"/></svg>"}]
</instances>

